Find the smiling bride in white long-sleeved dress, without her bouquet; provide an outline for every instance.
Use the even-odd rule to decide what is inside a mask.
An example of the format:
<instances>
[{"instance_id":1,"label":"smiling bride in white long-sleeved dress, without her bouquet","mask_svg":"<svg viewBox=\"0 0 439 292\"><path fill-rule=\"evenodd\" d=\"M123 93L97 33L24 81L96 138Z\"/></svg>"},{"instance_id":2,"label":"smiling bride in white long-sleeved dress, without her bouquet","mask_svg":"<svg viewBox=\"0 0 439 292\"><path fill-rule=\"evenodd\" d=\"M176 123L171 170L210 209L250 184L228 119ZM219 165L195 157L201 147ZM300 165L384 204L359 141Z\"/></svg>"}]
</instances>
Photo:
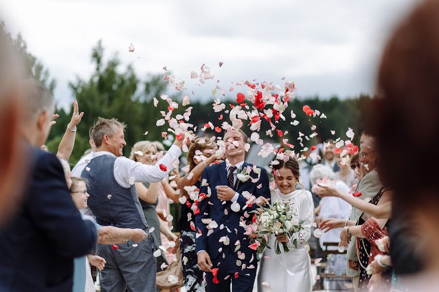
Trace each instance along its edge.
<instances>
[{"instance_id":1,"label":"smiling bride in white long-sleeved dress, without her bouquet","mask_svg":"<svg viewBox=\"0 0 439 292\"><path fill-rule=\"evenodd\" d=\"M314 204L311 193L306 190L296 190L299 181L299 163L294 157L289 161L279 160L273 165L277 189L271 192L271 202L289 202L295 210L296 217L304 220L303 230L299 235L288 239L285 234L272 235L265 248L258 274L258 292L264 292L271 286L272 291L310 292L313 287L311 259L305 249L305 243L311 236L311 225L314 220ZM297 248L293 240L297 238ZM286 242L290 248L284 253L279 244L281 254L276 255L275 244ZM263 284L262 284L263 283Z\"/></svg>"}]
</instances>

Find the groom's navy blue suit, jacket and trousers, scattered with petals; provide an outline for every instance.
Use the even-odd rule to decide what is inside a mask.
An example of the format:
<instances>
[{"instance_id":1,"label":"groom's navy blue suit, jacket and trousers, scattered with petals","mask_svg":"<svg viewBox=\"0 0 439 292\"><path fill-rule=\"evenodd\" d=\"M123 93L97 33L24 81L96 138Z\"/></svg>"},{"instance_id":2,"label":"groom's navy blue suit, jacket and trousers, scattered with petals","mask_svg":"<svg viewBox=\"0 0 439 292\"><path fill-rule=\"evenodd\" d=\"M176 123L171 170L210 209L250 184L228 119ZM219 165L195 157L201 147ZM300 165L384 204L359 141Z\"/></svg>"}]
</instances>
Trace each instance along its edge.
<instances>
[{"instance_id":1,"label":"groom's navy blue suit, jacket and trousers, scattered with petals","mask_svg":"<svg viewBox=\"0 0 439 292\"><path fill-rule=\"evenodd\" d=\"M250 164L244 162L242 169ZM250 165L253 166L253 165ZM211 196L201 200L198 203L200 213L196 216L195 225L200 229L202 235L196 239L196 252L205 250L213 263L213 268L219 268L218 280L220 283L214 284L212 282L212 273L207 273L207 291L229 291L230 281L232 280L233 291L252 291L253 283L256 275L256 267L258 266L256 251L250 249L250 241L245 233L245 229L239 225L241 220L245 220L248 225L251 222L253 214L249 214L248 218L245 218L244 213L255 210L258 206L253 204L251 207L247 207L245 210L242 208L246 205L247 200L241 195L243 191L248 191L255 197L270 198L269 182L267 171L260 168L260 178L257 183L252 183L251 179L242 183L237 180L233 189L239 193L238 203L240 205L239 212L231 210L230 206L232 201L226 201L223 203L217 196L216 186L227 185L227 171L226 163L215 164L206 167L201 176L201 182L206 179L211 190ZM241 170L238 169L238 173ZM253 171L250 173L252 178L257 178L258 175ZM260 189L257 185L262 184ZM238 187L237 187L238 185ZM208 194L208 186L201 186L200 194ZM226 211L225 211L226 210ZM227 215L225 215L227 213ZM206 225L201 221L202 219L212 219L218 223L217 228L213 229L213 233L207 236L208 229ZM223 225L224 228L220 228ZM223 242L219 242L221 237L227 236L230 240L229 245L224 245ZM237 252L235 249L237 245L235 243L239 240L240 248ZM238 258L238 252L244 253L243 259ZM242 256L241 256L242 257ZM237 260L240 260L242 264L246 264L246 267L251 265L254 269L241 269L241 266L237 266ZM252 261L251 261L252 260ZM238 277L235 278L235 273L238 272ZM227 280L224 280L226 276L230 275Z\"/></svg>"}]
</instances>

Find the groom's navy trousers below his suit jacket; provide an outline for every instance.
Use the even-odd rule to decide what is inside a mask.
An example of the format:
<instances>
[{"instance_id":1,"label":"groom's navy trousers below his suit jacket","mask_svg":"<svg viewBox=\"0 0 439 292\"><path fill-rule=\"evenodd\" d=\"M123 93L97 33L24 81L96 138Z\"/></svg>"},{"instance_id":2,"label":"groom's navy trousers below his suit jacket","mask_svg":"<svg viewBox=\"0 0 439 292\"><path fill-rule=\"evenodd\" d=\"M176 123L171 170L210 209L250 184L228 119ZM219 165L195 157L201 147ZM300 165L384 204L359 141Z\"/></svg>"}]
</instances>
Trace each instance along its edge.
<instances>
[{"instance_id":1,"label":"groom's navy trousers below his suit jacket","mask_svg":"<svg viewBox=\"0 0 439 292\"><path fill-rule=\"evenodd\" d=\"M234 247L234 246L233 246ZM223 258L222 255L225 255ZM213 274L207 273L207 292L230 292L230 283L232 284L233 292L252 292L253 285L255 283L256 269L258 267L258 262L256 260L256 255L254 256L253 262L246 260L240 260L241 265L237 266L238 257L236 253L231 250L229 246L223 246L223 252L212 260L213 268L219 268L217 279L220 283L215 284L213 282ZM254 265L254 269L248 269L247 267L242 270L242 264L246 264L247 267ZM238 272L238 277L235 278L235 273ZM226 280L225 277L229 276Z\"/></svg>"}]
</instances>

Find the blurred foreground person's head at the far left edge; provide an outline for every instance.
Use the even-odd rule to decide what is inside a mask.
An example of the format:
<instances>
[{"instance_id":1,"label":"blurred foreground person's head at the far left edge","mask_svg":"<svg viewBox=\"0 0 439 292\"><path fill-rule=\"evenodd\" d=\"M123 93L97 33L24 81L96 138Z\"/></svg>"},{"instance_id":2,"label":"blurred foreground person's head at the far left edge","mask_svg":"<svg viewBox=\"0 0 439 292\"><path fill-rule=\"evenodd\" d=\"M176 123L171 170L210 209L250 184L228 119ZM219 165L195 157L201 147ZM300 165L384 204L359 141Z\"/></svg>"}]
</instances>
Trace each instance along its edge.
<instances>
[{"instance_id":1,"label":"blurred foreground person's head at the far left edge","mask_svg":"<svg viewBox=\"0 0 439 292\"><path fill-rule=\"evenodd\" d=\"M26 180L27 151L19 132L23 64L0 27L0 230L20 202Z\"/></svg>"}]
</instances>

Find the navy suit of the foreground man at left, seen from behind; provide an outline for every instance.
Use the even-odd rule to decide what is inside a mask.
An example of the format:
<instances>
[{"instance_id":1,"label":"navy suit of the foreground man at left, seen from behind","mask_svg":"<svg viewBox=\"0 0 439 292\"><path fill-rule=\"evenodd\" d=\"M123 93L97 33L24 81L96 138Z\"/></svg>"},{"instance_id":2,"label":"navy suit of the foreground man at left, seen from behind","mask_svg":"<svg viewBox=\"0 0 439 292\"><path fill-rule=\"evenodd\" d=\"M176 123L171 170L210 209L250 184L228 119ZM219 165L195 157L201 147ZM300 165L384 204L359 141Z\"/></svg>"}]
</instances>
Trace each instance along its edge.
<instances>
[{"instance_id":1,"label":"navy suit of the foreground man at left, seen from behind","mask_svg":"<svg viewBox=\"0 0 439 292\"><path fill-rule=\"evenodd\" d=\"M0 230L0 291L72 291L73 258L96 248L96 227L81 219L58 158L31 154L20 209Z\"/></svg>"}]
</instances>

